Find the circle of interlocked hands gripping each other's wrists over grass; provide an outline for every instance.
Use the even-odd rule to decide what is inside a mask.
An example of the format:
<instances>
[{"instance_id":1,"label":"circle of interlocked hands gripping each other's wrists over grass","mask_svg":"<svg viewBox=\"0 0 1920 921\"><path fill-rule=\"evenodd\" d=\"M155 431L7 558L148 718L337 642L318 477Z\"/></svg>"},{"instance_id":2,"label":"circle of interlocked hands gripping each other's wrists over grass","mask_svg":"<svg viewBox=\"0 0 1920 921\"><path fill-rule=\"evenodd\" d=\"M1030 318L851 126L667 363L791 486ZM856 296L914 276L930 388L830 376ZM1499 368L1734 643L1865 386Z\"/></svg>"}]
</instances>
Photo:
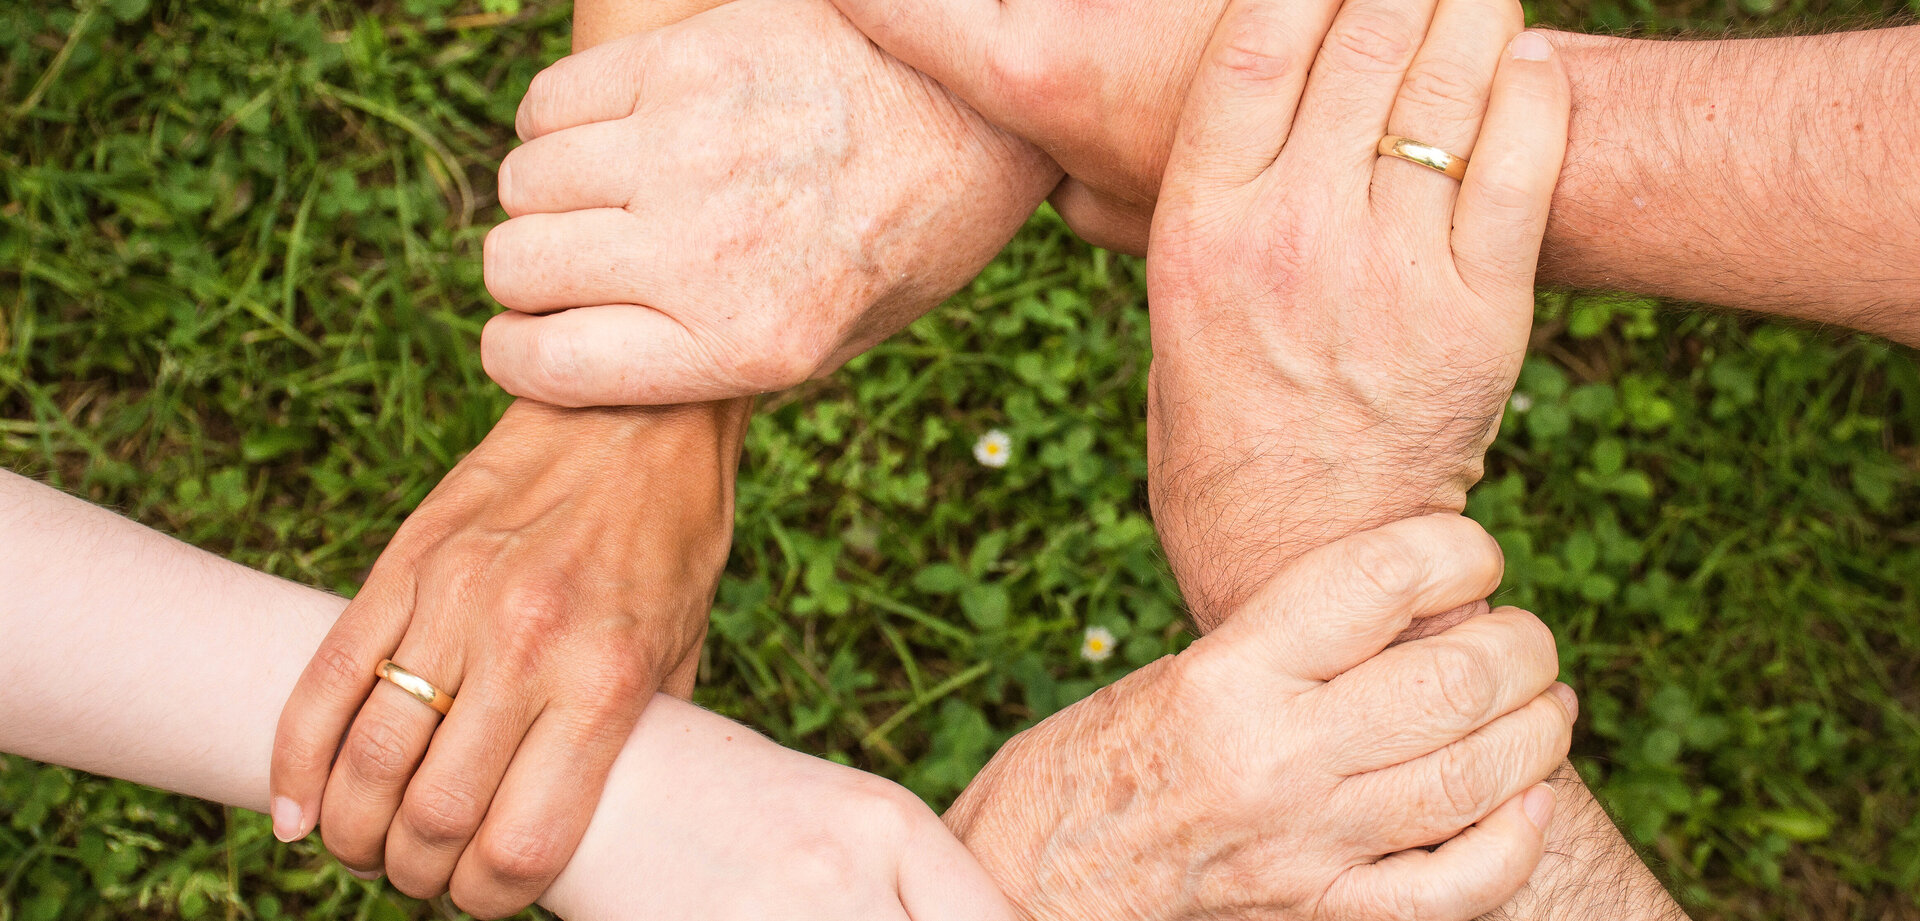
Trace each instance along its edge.
<instances>
[{"instance_id":1,"label":"circle of interlocked hands gripping each other's wrists over grass","mask_svg":"<svg viewBox=\"0 0 1920 921\"><path fill-rule=\"evenodd\" d=\"M563 871L641 877L637 906L553 904L603 917L1465 919L1523 888L1578 706L1540 620L1488 608L1500 549L1457 514L1567 146L1567 75L1517 0L622 25L520 106L482 349L524 399L301 675L284 840L319 829L482 917ZM1016 737L945 819L743 733L676 754L714 760L703 823L639 812L609 840L622 746L657 691L691 693L747 397L939 305L1048 196L1146 255L1150 497L1217 629ZM384 658L451 714L376 683Z\"/></svg>"}]
</instances>

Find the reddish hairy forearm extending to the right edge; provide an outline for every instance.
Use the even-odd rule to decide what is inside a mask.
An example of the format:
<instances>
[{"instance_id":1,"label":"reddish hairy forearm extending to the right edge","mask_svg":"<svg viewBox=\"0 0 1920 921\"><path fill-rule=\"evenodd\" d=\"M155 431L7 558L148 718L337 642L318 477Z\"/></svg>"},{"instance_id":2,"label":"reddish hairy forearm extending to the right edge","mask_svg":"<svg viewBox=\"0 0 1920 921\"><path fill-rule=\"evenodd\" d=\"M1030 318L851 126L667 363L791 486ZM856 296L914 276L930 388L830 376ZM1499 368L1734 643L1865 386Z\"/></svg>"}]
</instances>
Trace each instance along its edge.
<instances>
[{"instance_id":1,"label":"reddish hairy forearm extending to the right edge","mask_svg":"<svg viewBox=\"0 0 1920 921\"><path fill-rule=\"evenodd\" d=\"M1920 27L1555 44L1574 115L1544 282L1920 343Z\"/></svg>"}]
</instances>

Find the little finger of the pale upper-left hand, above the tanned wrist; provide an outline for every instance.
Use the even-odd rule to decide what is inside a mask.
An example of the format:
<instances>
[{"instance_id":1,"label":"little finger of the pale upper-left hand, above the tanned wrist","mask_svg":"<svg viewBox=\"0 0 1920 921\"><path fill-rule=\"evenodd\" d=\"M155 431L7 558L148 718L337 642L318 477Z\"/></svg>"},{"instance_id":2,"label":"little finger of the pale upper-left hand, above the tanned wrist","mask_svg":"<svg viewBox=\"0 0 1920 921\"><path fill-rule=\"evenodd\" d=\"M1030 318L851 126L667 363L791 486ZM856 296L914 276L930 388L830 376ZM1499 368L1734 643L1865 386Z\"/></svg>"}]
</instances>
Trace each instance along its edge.
<instances>
[{"instance_id":1,"label":"little finger of the pale upper-left hand, above the tanned wrist","mask_svg":"<svg viewBox=\"0 0 1920 921\"><path fill-rule=\"evenodd\" d=\"M710 355L685 324L637 305L503 313L482 330L480 363L507 393L561 407L707 403L806 378L778 359Z\"/></svg>"}]
</instances>

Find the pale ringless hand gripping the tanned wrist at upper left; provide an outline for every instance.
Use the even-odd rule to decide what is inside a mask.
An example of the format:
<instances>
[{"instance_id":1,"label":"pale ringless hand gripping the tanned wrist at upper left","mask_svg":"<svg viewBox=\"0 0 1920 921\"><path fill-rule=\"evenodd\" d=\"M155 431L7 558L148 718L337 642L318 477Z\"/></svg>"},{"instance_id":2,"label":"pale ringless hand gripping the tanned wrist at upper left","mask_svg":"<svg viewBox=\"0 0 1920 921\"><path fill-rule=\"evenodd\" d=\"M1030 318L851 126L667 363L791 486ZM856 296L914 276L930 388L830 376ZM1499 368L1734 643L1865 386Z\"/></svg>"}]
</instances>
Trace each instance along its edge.
<instances>
[{"instance_id":1,"label":"pale ringless hand gripping the tanned wrist at upper left","mask_svg":"<svg viewBox=\"0 0 1920 921\"><path fill-rule=\"evenodd\" d=\"M831 372L966 284L1058 180L826 0L739 0L566 58L518 130L513 219L486 240L513 311L482 355L561 405Z\"/></svg>"}]
</instances>

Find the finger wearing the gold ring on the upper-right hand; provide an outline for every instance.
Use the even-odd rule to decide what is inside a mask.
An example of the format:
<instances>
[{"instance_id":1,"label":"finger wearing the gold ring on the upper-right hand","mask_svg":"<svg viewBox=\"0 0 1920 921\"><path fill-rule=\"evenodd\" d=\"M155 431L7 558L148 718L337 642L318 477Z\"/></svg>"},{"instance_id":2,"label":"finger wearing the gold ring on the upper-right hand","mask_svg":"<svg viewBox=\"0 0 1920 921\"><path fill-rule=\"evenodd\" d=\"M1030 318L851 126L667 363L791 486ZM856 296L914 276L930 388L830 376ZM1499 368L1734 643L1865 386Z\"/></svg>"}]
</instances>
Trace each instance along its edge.
<instances>
[{"instance_id":1,"label":"finger wearing the gold ring on the upper-right hand","mask_svg":"<svg viewBox=\"0 0 1920 921\"><path fill-rule=\"evenodd\" d=\"M1413 56L1386 132L1413 138L1455 157L1473 157L1480 119L1500 69L1501 50L1524 27L1515 0L1440 0L1434 25ZM1419 163L1380 157L1373 203L1446 244L1459 182Z\"/></svg>"}]
</instances>

